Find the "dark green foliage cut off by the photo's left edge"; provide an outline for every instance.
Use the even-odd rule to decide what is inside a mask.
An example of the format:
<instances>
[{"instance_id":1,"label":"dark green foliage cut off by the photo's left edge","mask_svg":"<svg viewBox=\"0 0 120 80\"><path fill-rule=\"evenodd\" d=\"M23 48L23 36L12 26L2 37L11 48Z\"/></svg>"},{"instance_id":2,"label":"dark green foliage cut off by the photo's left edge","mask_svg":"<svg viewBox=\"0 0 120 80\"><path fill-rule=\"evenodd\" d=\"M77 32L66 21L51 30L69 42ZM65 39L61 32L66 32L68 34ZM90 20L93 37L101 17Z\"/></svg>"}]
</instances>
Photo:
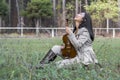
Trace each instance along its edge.
<instances>
[{"instance_id":1,"label":"dark green foliage cut off by the photo's left edge","mask_svg":"<svg viewBox=\"0 0 120 80\"><path fill-rule=\"evenodd\" d=\"M8 14L8 6L5 0L0 0L0 16L6 16Z\"/></svg>"}]
</instances>

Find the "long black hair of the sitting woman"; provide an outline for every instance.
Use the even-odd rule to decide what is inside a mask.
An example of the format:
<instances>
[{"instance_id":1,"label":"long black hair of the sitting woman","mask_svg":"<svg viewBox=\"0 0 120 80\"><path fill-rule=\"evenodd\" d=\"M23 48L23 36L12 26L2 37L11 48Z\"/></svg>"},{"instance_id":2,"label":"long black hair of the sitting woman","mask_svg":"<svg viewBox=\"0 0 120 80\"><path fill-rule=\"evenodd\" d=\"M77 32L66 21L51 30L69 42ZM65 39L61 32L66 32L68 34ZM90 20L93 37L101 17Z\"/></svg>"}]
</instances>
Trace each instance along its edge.
<instances>
[{"instance_id":1,"label":"long black hair of the sitting woman","mask_svg":"<svg viewBox=\"0 0 120 80\"><path fill-rule=\"evenodd\" d=\"M85 12L85 16L83 17L82 23L79 25L79 29L85 27L90 35L92 41L94 41L94 33L92 29L92 20L88 13ZM75 32L76 27L74 27L73 32Z\"/></svg>"}]
</instances>

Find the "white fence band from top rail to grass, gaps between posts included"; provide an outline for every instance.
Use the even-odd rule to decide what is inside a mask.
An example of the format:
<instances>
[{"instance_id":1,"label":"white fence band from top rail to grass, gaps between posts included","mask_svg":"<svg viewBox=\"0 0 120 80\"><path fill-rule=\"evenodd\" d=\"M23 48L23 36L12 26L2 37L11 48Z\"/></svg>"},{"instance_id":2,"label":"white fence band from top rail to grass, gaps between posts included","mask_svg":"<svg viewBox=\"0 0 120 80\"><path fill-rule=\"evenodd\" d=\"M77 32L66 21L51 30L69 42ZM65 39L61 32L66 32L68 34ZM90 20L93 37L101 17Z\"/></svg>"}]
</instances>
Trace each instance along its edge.
<instances>
[{"instance_id":1,"label":"white fence band from top rail to grass, gaps between posts included","mask_svg":"<svg viewBox=\"0 0 120 80\"><path fill-rule=\"evenodd\" d=\"M93 28L93 30L95 36L113 37L113 38L120 37L120 28L109 28L109 29ZM26 34L29 34L29 36L33 35L34 37L40 37L40 36L55 37L55 36L62 36L63 34L65 34L65 28L0 27L0 38L9 37L8 35L10 35L11 33L16 33L17 37L25 37ZM12 37L16 37L16 36L13 35Z\"/></svg>"}]
</instances>

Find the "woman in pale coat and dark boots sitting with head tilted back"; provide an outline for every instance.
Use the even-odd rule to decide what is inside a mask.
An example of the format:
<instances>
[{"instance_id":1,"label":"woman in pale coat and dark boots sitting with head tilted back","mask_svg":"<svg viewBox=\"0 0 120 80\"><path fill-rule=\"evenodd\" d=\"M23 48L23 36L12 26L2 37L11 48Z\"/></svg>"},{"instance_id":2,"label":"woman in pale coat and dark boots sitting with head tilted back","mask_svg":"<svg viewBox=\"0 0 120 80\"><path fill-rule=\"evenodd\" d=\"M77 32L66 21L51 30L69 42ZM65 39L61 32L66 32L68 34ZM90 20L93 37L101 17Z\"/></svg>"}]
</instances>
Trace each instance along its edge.
<instances>
[{"instance_id":1,"label":"woman in pale coat and dark boots sitting with head tilted back","mask_svg":"<svg viewBox=\"0 0 120 80\"><path fill-rule=\"evenodd\" d=\"M75 16L74 21L75 27L73 31L66 26L66 33L68 34L67 37L74 46L77 55L74 58L64 58L61 52L64 46L55 45L40 61L41 66L36 68L44 67L45 64L54 61L57 56L62 57L62 60L56 62L58 68L73 65L74 63L82 63L85 66L88 66L88 64L91 63L98 64L98 60L92 48L94 33L90 15L86 12L82 12ZM98 65L101 67L100 64Z\"/></svg>"}]
</instances>

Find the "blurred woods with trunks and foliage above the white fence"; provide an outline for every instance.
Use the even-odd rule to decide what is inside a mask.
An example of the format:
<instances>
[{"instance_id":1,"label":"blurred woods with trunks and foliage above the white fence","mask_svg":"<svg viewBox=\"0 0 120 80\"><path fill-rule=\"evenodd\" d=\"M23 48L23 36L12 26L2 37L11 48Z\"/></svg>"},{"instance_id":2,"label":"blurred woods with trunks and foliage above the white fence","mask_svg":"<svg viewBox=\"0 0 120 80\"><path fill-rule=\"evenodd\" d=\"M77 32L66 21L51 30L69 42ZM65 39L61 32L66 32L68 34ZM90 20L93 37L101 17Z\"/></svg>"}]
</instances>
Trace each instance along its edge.
<instances>
[{"instance_id":1,"label":"blurred woods with trunks and foliage above the white fence","mask_svg":"<svg viewBox=\"0 0 120 80\"><path fill-rule=\"evenodd\" d=\"M0 27L64 27L87 10L93 26L120 27L120 0L0 0Z\"/></svg>"}]
</instances>

